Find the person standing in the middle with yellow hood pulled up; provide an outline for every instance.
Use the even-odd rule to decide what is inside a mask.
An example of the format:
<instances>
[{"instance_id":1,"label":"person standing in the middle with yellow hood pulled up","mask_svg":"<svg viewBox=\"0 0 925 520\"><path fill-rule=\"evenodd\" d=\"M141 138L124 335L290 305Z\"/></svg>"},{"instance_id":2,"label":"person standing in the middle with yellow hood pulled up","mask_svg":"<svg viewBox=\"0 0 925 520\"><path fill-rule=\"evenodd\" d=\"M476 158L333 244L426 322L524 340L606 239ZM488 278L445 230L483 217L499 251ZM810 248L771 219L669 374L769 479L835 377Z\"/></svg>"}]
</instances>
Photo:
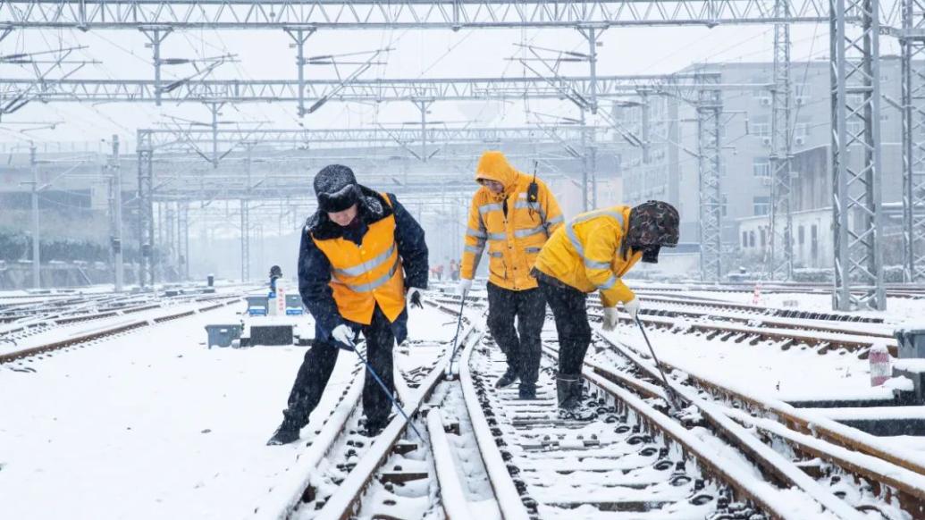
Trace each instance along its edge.
<instances>
[{"instance_id":1,"label":"person standing in the middle with yellow hood pulled up","mask_svg":"<svg viewBox=\"0 0 925 520\"><path fill-rule=\"evenodd\" d=\"M500 152L482 155L475 181L482 187L469 208L460 293L464 296L472 287L487 246L488 329L508 361L495 386L507 387L520 379L520 398L536 399L546 301L530 269L549 236L561 228L561 210L536 172L529 176L515 170Z\"/></svg>"}]
</instances>

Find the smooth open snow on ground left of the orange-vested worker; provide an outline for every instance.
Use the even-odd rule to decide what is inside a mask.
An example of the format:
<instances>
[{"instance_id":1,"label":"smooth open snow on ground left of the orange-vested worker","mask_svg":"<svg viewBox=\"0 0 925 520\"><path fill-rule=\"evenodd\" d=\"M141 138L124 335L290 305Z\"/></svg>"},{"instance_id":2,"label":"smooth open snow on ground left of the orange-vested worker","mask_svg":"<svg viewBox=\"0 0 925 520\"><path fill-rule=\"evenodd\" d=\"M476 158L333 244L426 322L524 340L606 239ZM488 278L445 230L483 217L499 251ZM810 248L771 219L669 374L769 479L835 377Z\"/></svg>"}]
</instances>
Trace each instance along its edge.
<instances>
[{"instance_id":1,"label":"smooth open snow on ground left of the orange-vested worker","mask_svg":"<svg viewBox=\"0 0 925 520\"><path fill-rule=\"evenodd\" d=\"M252 509L302 449L265 441L305 348L208 350L204 326L234 312L55 353L29 364L34 373L0 365L0 518L228 518ZM353 363L340 356L329 383L338 390L317 412L333 406Z\"/></svg>"}]
</instances>

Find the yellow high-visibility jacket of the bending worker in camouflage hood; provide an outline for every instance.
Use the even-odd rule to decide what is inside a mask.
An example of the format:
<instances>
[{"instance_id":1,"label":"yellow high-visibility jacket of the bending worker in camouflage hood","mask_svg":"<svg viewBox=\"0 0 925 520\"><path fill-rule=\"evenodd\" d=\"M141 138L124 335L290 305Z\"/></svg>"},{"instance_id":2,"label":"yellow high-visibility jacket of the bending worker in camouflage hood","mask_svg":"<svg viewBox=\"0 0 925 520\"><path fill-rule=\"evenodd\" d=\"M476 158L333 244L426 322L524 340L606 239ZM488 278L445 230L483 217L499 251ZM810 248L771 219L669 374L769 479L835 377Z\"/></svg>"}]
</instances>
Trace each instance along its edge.
<instances>
[{"instance_id":1,"label":"yellow high-visibility jacket of the bending worker in camouflage hood","mask_svg":"<svg viewBox=\"0 0 925 520\"><path fill-rule=\"evenodd\" d=\"M634 299L620 278L642 258L641 251L620 254L632 209L616 205L574 217L546 242L536 269L578 291L600 291L605 307Z\"/></svg>"}]
</instances>

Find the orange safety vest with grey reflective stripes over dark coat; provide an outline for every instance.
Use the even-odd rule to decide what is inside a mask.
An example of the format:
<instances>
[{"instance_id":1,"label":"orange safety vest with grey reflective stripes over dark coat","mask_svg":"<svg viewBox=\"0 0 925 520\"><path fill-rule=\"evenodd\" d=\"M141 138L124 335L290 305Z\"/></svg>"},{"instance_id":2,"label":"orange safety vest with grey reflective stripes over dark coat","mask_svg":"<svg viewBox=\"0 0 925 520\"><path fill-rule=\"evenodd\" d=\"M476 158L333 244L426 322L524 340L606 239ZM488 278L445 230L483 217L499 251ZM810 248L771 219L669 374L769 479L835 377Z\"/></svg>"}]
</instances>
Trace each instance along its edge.
<instances>
[{"instance_id":1,"label":"orange safety vest with grey reflective stripes over dark coat","mask_svg":"<svg viewBox=\"0 0 925 520\"><path fill-rule=\"evenodd\" d=\"M388 195L383 193L391 206ZM355 323L369 325L376 303L395 321L405 306L404 272L398 245L395 243L395 215L369 225L363 243L357 245L343 237L318 240L314 244L331 263L331 281L340 316Z\"/></svg>"}]
</instances>

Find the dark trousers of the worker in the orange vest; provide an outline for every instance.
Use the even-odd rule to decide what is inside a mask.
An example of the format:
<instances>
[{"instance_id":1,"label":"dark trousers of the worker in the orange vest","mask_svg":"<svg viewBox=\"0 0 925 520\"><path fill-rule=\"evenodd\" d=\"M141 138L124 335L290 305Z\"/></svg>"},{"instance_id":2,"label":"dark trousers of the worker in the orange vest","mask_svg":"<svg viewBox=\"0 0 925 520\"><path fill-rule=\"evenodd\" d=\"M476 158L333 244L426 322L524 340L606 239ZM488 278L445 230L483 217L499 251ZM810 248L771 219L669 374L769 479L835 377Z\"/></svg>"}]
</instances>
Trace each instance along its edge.
<instances>
[{"instance_id":1,"label":"dark trousers of the worker in the orange vest","mask_svg":"<svg viewBox=\"0 0 925 520\"><path fill-rule=\"evenodd\" d=\"M392 333L388 317L376 305L372 323L362 326L354 324L354 327L359 327L366 339L366 361L376 370L376 374L388 387L389 393L394 396L392 347L395 345L395 335ZM321 394L325 391L327 380L331 378L339 352L340 349L334 340L315 340L312 348L305 353L302 366L299 367L299 373L296 374L290 390L289 407L283 412L291 425L301 428L308 424L308 416L321 401ZM363 387L363 411L367 423L385 423L391 409L391 400L367 368Z\"/></svg>"}]
</instances>

